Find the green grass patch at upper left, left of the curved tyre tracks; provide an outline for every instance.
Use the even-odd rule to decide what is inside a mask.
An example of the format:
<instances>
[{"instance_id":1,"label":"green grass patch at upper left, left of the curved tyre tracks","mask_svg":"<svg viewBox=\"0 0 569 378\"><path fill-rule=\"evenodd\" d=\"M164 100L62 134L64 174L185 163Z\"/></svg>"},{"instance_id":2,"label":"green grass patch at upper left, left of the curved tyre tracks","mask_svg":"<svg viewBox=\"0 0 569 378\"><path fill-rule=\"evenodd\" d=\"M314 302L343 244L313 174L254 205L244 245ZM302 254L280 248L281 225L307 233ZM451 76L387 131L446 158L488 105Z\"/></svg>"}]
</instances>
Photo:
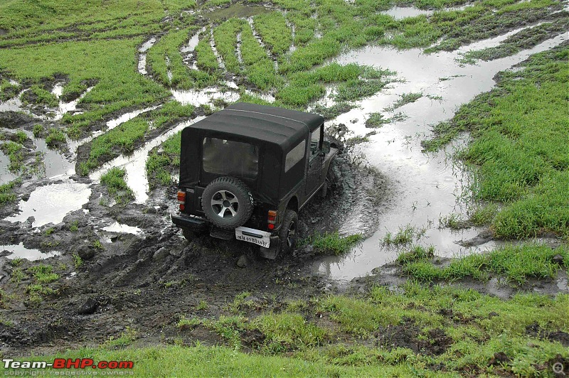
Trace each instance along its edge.
<instances>
[{"instance_id":1,"label":"green grass patch at upper left, left of the curved tyre tracks","mask_svg":"<svg viewBox=\"0 0 569 378\"><path fill-rule=\"evenodd\" d=\"M65 114L68 134L79 136L93 121L131 106L150 104L168 96L164 87L136 71L134 51L140 39L116 41L63 42L3 50L0 67L9 66L16 80L41 80L65 74L70 81L63 95L85 92L88 80L98 80L95 88L80 100L83 114ZM29 64L30 57L36 64ZM57 64L54 64L57 62Z\"/></svg>"}]
</instances>

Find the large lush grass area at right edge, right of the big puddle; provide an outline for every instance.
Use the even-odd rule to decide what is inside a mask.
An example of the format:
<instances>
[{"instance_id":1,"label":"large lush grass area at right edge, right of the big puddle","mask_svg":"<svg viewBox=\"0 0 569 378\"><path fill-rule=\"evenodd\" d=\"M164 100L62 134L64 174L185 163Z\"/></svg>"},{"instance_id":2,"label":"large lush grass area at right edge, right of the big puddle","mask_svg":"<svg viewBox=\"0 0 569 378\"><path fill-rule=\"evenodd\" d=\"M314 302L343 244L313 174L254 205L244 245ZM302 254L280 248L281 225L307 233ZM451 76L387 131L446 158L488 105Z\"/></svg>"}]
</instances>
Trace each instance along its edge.
<instances>
[{"instance_id":1,"label":"large lush grass area at right edge, right of the big puddle","mask_svg":"<svg viewBox=\"0 0 569 378\"><path fill-rule=\"evenodd\" d=\"M474 140L459 158L479 168L472 193L477 200L502 202L491 221L499 237L569 234L569 124L565 46L533 55L519 72L501 72L498 87L435 126L433 150L460 131Z\"/></svg>"}]
</instances>

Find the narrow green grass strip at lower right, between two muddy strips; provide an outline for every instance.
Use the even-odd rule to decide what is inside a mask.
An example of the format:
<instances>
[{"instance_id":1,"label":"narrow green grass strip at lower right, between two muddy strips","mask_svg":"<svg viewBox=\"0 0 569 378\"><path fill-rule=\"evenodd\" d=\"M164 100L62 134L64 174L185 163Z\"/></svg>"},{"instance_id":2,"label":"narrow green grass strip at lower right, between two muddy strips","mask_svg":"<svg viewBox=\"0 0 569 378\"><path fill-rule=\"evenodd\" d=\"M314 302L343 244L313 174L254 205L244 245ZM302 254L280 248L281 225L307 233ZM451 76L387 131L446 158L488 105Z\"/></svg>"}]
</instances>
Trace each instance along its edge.
<instances>
[{"instance_id":1,"label":"narrow green grass strip at lower right, between two muddy strips","mask_svg":"<svg viewBox=\"0 0 569 378\"><path fill-rule=\"evenodd\" d=\"M560 256L560 262L555 260ZM569 268L569 249L551 249L544 244L507 246L485 254L472 254L452 259L447 266L436 266L421 247L415 247L398 258L403 274L424 282L454 281L472 278L487 281L491 275L516 285L528 279L555 279L559 269Z\"/></svg>"}]
</instances>

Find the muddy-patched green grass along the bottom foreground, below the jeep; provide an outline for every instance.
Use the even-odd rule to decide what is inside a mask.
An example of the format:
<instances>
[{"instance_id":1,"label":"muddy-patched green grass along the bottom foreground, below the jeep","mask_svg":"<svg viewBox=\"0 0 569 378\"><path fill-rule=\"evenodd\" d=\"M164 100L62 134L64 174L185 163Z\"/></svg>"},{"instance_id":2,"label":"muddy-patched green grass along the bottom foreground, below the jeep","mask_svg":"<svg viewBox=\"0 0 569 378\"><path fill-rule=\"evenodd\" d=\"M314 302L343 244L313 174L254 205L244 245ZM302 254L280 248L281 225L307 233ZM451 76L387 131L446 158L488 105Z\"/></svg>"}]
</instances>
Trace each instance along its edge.
<instances>
[{"instance_id":1,"label":"muddy-patched green grass along the bottom foreground, below the jeep","mask_svg":"<svg viewBox=\"0 0 569 378\"><path fill-rule=\"evenodd\" d=\"M398 292L371 286L357 297L279 301L247 317L187 315L174 325L176 345L124 348L137 338L125 332L130 337L121 345L54 357L134 360L135 374L176 376L549 374L557 355L569 357L556 338L569 330L568 305L567 294L521 293L505 300L410 282ZM213 331L225 345L196 342L189 336L196 329ZM506 358L496 363L501 354Z\"/></svg>"}]
</instances>

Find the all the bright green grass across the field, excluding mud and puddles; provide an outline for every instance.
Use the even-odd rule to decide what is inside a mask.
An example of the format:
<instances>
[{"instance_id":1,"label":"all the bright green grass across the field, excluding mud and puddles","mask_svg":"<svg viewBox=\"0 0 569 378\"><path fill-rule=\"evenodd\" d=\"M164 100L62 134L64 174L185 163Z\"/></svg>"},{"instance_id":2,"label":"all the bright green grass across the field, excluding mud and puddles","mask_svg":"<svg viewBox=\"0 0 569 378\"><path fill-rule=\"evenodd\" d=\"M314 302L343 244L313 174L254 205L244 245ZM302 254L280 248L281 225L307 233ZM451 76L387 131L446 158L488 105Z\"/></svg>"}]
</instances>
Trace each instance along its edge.
<instances>
[{"instance_id":1,"label":"all the bright green grass across the field, excluding mud and puddles","mask_svg":"<svg viewBox=\"0 0 569 378\"><path fill-rule=\"evenodd\" d=\"M334 106L317 107L331 118L394 80L395 72L329 62L346 49L378 43L427 52L456 50L547 21L514 33L496 48L464 54L463 63L475 63L511 55L567 29L567 13L553 13L563 8L557 0L483 0L464 9L449 8L464 4L457 0L275 0L271 9L253 7L257 3L211 11L230 1L3 1L0 99L20 96L24 103L57 107L51 92L55 82L63 82L60 99L84 95L80 113L33 130L50 145L65 143L63 131L73 139L104 131L79 157L78 173L87 175L177 121L195 117L194 107L171 100L173 89L198 90L231 80L242 101L267 103L245 93L247 88L274 95L277 106L307 109L333 85ZM395 20L381 13L394 5L430 9L432 15ZM203 20L186 12L196 9L203 11ZM252 25L245 16L252 17ZM200 70L193 70L180 49L204 26L193 57ZM138 50L150 38L156 43L147 52L149 75L141 75ZM565 43L534 55L523 70L501 72L495 90L465 104L452 120L435 126L434 139L425 141L427 150L436 150L462 131L471 133L472 143L459 154L474 167L476 178L469 188L475 205L464 221L487 225L498 237L569 237L568 57ZM395 107L422 95L402 95ZM109 119L151 105L160 107L104 129ZM369 127L388 122L378 112L366 119ZM26 173L25 143L21 131L0 147L9 157L9 169L21 175ZM146 166L151 187L171 185L179 150L176 134L151 152ZM133 196L125 174L112 168L101 177L117 202ZM12 189L20 183L0 185L0 205L16 200ZM450 216L443 223L459 228L461 222ZM73 227L77 231L78 225ZM500 299L450 285L466 279L497 278L514 286L553 279L569 267L565 244L557 249L522 244L438 264L434 249L413 246L422 234L425 230L408 225L383 240L386 246L403 247L398 264L409 281L396 291L370 283L358 294L269 304L243 293L226 303L221 315L188 308L179 323L165 325L174 337L160 344L174 345L148 347L139 338L144 330L131 329L100 347L60 356L134 360L134 371L141 375L334 377L547 376L556 359L569 358L562 344L569 333L567 294L520 293ZM332 233L316 235L311 242L323 254L344 254L360 239ZM102 248L98 240L92 243ZM83 264L74 258L76 268ZM35 306L52 293L50 284L60 271L42 264L22 274L31 279L23 290ZM0 303L5 299L0 291ZM196 334L220 341L202 345Z\"/></svg>"}]
</instances>

